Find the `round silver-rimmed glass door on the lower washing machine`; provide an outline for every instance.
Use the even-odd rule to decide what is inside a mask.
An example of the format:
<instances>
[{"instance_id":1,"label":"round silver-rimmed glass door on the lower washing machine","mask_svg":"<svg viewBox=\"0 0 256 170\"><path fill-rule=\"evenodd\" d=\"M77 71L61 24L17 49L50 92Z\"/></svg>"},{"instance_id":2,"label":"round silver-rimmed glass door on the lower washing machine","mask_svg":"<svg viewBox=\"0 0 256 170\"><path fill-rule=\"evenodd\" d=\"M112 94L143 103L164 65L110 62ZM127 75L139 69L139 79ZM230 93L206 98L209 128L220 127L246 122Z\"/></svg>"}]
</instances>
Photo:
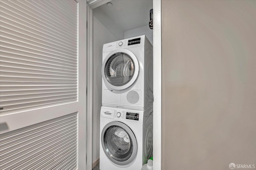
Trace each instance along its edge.
<instances>
[{"instance_id":1,"label":"round silver-rimmed glass door on the lower washing machine","mask_svg":"<svg viewBox=\"0 0 256 170\"><path fill-rule=\"evenodd\" d=\"M124 123L108 123L102 130L101 143L106 156L115 164L127 165L136 157L136 138Z\"/></svg>"}]
</instances>

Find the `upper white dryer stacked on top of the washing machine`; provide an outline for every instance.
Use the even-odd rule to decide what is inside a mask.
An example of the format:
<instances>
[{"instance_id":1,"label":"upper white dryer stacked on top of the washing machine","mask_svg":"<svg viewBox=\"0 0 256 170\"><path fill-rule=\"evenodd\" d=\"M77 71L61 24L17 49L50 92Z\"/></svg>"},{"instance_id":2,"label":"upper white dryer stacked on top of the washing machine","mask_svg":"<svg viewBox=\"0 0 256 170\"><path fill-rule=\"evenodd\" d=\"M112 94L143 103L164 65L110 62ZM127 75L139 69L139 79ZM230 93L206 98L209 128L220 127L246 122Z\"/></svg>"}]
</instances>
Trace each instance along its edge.
<instances>
[{"instance_id":1,"label":"upper white dryer stacked on top of the washing machine","mask_svg":"<svg viewBox=\"0 0 256 170\"><path fill-rule=\"evenodd\" d=\"M153 46L146 36L103 45L102 106L145 110L153 104Z\"/></svg>"}]
</instances>

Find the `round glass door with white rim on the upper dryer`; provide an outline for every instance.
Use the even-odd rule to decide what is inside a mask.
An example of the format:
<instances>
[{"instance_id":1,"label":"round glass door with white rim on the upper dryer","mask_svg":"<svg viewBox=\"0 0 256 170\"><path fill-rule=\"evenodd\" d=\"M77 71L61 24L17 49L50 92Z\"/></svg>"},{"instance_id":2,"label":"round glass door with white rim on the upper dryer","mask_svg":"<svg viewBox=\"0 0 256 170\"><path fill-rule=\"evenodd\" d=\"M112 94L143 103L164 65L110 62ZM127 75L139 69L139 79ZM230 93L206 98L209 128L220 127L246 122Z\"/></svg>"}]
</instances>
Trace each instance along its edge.
<instances>
[{"instance_id":1,"label":"round glass door with white rim on the upper dryer","mask_svg":"<svg viewBox=\"0 0 256 170\"><path fill-rule=\"evenodd\" d=\"M138 60L127 49L112 51L102 63L102 78L114 90L123 90L130 87L136 81L138 74Z\"/></svg>"}]
</instances>

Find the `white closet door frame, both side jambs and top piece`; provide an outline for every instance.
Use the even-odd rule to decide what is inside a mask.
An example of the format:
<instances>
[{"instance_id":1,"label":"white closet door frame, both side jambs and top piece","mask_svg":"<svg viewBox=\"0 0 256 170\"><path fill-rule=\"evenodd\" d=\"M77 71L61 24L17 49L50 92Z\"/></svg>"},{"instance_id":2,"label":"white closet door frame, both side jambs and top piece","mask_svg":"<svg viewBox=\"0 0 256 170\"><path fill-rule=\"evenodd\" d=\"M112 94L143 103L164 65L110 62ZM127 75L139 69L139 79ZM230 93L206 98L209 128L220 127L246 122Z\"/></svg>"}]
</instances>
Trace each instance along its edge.
<instances>
[{"instance_id":1,"label":"white closet door frame, both side jambs and top piece","mask_svg":"<svg viewBox=\"0 0 256 170\"><path fill-rule=\"evenodd\" d=\"M111 0L87 0L87 168L92 169L92 117L93 117L93 28L92 10L110 2ZM162 127L162 35L161 35L161 3L162 0L153 0L153 61L154 61L154 124L153 124L153 158L154 170L161 170L161 127Z\"/></svg>"}]
</instances>

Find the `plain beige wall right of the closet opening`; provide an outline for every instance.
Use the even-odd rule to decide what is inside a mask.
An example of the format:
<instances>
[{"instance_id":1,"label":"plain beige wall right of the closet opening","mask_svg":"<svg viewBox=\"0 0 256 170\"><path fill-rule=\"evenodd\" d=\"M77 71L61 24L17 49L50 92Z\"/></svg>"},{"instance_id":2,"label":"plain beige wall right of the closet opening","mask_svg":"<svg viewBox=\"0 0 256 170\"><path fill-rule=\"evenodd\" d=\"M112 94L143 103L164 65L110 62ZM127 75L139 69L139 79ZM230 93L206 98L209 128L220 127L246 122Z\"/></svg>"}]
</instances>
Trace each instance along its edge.
<instances>
[{"instance_id":1,"label":"plain beige wall right of the closet opening","mask_svg":"<svg viewBox=\"0 0 256 170\"><path fill-rule=\"evenodd\" d=\"M162 0L162 170L232 162L256 167L256 1Z\"/></svg>"}]
</instances>

